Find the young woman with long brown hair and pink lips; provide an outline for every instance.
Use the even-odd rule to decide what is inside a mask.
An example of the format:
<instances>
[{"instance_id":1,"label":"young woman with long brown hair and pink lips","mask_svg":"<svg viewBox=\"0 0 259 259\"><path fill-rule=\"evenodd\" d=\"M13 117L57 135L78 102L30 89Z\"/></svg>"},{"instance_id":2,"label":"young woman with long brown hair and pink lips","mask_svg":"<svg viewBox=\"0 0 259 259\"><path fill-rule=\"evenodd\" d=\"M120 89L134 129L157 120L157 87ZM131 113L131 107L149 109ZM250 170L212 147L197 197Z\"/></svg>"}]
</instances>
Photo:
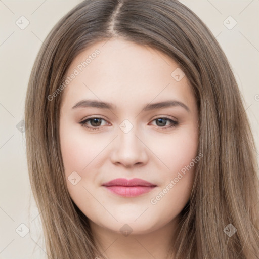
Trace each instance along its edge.
<instances>
[{"instance_id":1,"label":"young woman with long brown hair and pink lips","mask_svg":"<svg viewBox=\"0 0 259 259\"><path fill-rule=\"evenodd\" d=\"M259 257L241 95L178 1L77 5L40 49L25 121L49 258Z\"/></svg>"}]
</instances>

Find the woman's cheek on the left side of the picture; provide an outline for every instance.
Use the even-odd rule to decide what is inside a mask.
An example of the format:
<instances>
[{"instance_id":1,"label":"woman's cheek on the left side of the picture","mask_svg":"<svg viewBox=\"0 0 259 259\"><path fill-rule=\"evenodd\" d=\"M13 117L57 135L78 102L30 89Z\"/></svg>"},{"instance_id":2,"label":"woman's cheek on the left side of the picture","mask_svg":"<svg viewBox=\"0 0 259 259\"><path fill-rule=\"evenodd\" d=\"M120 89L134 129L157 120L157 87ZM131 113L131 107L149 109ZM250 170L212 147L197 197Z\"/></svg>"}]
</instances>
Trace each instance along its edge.
<instances>
[{"instance_id":1,"label":"woman's cheek on the left side of the picture","mask_svg":"<svg viewBox=\"0 0 259 259\"><path fill-rule=\"evenodd\" d=\"M107 155L105 147L110 139L107 135L86 134L80 127L71 126L71 122L65 119L61 121L61 154L71 198L79 207L87 206L90 209L96 204L90 193L96 192L99 184L99 168L105 160L104 155Z\"/></svg>"}]
</instances>

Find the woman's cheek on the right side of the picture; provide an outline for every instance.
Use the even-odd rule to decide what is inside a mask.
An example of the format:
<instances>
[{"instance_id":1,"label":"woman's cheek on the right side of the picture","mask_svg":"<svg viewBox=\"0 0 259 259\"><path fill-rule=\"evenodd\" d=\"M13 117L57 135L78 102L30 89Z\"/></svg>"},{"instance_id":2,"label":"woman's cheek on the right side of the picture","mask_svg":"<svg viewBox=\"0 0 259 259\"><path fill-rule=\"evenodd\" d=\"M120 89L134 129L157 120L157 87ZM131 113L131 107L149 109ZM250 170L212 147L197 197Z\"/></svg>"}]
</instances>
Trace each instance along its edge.
<instances>
[{"instance_id":1,"label":"woman's cheek on the right side of the picture","mask_svg":"<svg viewBox=\"0 0 259 259\"><path fill-rule=\"evenodd\" d=\"M154 148L154 147L153 147ZM164 211L161 217L169 219L181 212L188 202L193 186L197 154L198 131L195 127L181 130L175 136L161 139L156 155L162 161L159 171L162 184L150 203L156 211Z\"/></svg>"}]
</instances>

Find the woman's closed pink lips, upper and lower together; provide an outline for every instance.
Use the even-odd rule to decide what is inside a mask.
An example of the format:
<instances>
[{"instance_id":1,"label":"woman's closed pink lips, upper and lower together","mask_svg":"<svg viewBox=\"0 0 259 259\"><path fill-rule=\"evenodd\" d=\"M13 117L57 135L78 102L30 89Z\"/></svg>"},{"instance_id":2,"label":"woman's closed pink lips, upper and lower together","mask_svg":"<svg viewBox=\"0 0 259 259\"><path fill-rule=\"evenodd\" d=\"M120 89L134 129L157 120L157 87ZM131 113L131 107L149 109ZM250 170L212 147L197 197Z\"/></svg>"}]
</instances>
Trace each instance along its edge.
<instances>
[{"instance_id":1,"label":"woman's closed pink lips, upper and lower together","mask_svg":"<svg viewBox=\"0 0 259 259\"><path fill-rule=\"evenodd\" d=\"M153 190L157 185L149 183L145 180L134 178L127 180L125 178L117 178L110 182L104 183L109 191L123 197L135 197Z\"/></svg>"}]
</instances>

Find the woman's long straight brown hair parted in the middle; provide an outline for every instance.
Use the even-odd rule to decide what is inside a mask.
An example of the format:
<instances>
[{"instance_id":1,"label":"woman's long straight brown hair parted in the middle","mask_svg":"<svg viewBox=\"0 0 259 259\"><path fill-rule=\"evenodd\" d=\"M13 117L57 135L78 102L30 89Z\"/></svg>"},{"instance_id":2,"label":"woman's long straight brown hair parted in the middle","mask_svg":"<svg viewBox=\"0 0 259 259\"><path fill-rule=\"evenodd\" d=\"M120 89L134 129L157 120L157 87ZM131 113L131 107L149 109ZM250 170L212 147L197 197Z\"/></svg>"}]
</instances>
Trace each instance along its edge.
<instances>
[{"instance_id":1,"label":"woman's long straight brown hair parted in the middle","mask_svg":"<svg viewBox=\"0 0 259 259\"><path fill-rule=\"evenodd\" d=\"M258 166L243 99L217 40L176 0L83 1L55 25L37 55L25 104L27 161L49 258L104 258L67 191L59 139L62 91L48 97L79 53L111 37L177 61L197 98L198 153L204 157L171 244L175 259L258 258ZM232 236L230 229L236 230Z\"/></svg>"}]
</instances>

